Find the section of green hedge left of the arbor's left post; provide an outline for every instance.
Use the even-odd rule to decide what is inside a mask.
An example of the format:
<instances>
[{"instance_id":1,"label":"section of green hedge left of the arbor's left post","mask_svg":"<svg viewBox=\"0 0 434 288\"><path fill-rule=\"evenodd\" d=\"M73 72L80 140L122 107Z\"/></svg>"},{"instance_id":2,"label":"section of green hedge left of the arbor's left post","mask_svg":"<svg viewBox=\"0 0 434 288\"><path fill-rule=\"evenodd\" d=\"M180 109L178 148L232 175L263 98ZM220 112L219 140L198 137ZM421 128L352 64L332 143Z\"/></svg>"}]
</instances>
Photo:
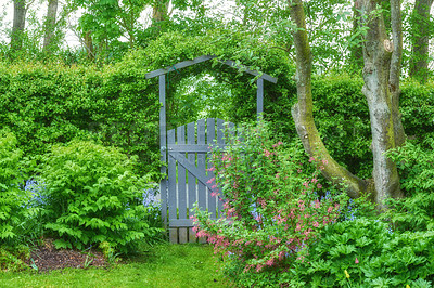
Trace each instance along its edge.
<instances>
[{"instance_id":1,"label":"section of green hedge left of the arbor's left post","mask_svg":"<svg viewBox=\"0 0 434 288\"><path fill-rule=\"evenodd\" d=\"M27 156L90 136L139 155L143 170L157 171L158 103L154 94L143 93L143 69L131 64L103 71L0 64L0 123L15 133Z\"/></svg>"}]
</instances>

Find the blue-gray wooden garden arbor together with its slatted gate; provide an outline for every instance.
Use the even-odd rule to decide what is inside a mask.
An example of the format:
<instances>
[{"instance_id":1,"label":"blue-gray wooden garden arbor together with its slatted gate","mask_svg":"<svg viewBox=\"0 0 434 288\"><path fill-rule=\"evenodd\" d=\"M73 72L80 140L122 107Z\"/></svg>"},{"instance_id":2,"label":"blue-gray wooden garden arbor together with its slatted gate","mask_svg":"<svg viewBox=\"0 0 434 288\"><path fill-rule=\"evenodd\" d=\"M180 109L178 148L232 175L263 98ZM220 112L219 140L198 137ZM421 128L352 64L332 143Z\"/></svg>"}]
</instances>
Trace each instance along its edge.
<instances>
[{"instance_id":1,"label":"blue-gray wooden garden arbor together with its slatted gate","mask_svg":"<svg viewBox=\"0 0 434 288\"><path fill-rule=\"evenodd\" d=\"M212 143L209 141L216 138L219 143L224 144L224 140L221 134L222 120L220 119L203 119L199 120L197 123L189 123L187 126L188 144L186 144L186 127L182 126L178 127L177 129L166 131L166 74L171 70L178 70L215 57L216 56L204 55L191 61L180 62L167 68L150 71L145 75L146 79L157 76L159 77L159 102L162 104L159 110L161 156L163 162L168 161L168 171L166 166L161 168L161 172L163 174L168 172L168 179L163 179L159 185L162 197L162 218L165 226L167 227L168 224L170 227L169 235L170 241L173 243L195 241L195 237L190 228L192 227L192 223L188 217L189 208L192 208L192 202L197 200L201 209L203 208L214 212L216 211L216 202L214 200L213 204L213 197L210 194L212 188L207 183L207 180L214 175L212 172L206 173L205 168L206 162L208 162L206 159L206 154L208 152L207 147ZM244 73L258 77L256 102L257 115L259 116L259 114L261 114L264 110L264 80L276 83L277 79L267 74L251 70L233 61L228 60L220 62L225 65L241 69ZM214 126L215 123L217 127ZM210 133L210 131L213 131L213 133ZM175 140L175 133L177 133L177 141ZM177 166L178 168L176 168ZM186 173L189 179L188 183L186 183ZM192 184L196 182L196 185ZM186 186L188 187L186 188ZM169 214L169 219L167 219L167 212Z\"/></svg>"}]
</instances>

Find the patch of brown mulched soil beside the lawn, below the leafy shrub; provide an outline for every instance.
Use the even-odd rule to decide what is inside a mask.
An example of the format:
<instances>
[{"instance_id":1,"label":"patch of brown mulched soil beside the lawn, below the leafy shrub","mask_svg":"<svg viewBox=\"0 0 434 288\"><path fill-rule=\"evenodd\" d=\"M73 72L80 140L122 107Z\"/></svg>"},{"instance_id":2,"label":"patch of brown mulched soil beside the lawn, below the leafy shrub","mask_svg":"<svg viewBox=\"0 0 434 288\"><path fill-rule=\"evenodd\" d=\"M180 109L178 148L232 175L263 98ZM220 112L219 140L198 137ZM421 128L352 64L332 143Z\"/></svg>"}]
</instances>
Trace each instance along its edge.
<instances>
[{"instance_id":1,"label":"patch of brown mulched soil beside the lawn, below the leafy shrub","mask_svg":"<svg viewBox=\"0 0 434 288\"><path fill-rule=\"evenodd\" d=\"M43 246L31 251L27 264L30 266L33 263L38 267L39 272L66 267L86 269L88 266L108 266L107 261L100 251L88 250L82 252L68 249L55 249L50 240L46 240Z\"/></svg>"}]
</instances>

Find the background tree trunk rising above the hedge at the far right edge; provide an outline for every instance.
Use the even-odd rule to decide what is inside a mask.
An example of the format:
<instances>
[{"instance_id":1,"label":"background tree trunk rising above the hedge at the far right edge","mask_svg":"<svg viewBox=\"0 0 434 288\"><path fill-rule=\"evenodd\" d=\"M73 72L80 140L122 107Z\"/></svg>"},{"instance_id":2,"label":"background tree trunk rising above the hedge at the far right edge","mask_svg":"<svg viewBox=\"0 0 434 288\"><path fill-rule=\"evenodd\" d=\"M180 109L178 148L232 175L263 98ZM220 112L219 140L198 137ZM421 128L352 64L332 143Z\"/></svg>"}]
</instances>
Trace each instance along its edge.
<instances>
[{"instance_id":1,"label":"background tree trunk rising above the hedge at the far right edge","mask_svg":"<svg viewBox=\"0 0 434 288\"><path fill-rule=\"evenodd\" d=\"M412 12L410 77L425 82L429 75L430 11L433 0L416 0Z\"/></svg>"}]
</instances>

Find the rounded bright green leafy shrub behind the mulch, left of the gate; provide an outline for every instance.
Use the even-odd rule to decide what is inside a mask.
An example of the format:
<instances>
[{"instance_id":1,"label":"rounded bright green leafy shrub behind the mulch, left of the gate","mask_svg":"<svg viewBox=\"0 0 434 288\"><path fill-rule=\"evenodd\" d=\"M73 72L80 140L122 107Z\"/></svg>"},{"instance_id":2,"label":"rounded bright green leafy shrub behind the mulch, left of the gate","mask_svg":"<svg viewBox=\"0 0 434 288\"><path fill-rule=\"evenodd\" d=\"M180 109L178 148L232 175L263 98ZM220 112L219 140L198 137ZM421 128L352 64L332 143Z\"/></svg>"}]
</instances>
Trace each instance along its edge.
<instances>
[{"instance_id":1,"label":"rounded bright green leafy shrub behind the mulch, left of the gate","mask_svg":"<svg viewBox=\"0 0 434 288\"><path fill-rule=\"evenodd\" d=\"M136 157L90 141L53 146L41 157L44 227L59 238L55 246L108 243L125 251L154 237L158 228L144 221L148 208L141 202L146 179L135 173L136 167Z\"/></svg>"}]
</instances>

